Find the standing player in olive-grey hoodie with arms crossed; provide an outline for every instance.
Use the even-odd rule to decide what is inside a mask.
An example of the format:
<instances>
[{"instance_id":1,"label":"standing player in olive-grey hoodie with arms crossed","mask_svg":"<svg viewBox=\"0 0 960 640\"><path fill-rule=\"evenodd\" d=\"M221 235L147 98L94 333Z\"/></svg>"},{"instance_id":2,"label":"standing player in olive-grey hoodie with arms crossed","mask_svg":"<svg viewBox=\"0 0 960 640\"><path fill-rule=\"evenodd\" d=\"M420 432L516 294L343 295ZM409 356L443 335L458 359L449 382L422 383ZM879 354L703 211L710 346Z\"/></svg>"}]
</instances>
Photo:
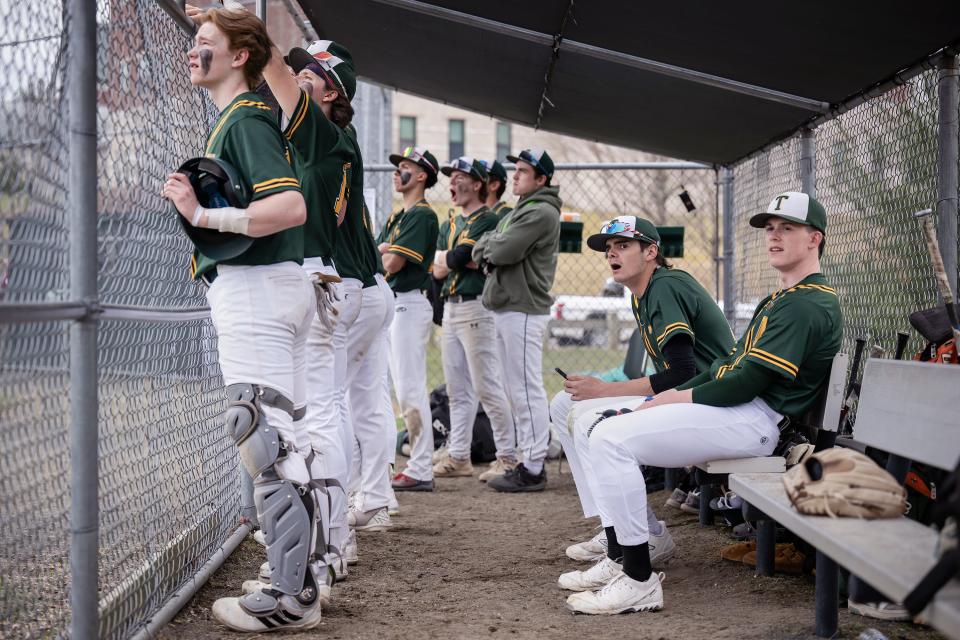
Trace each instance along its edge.
<instances>
[{"instance_id":1,"label":"standing player in olive-grey hoodie with arms crossed","mask_svg":"<svg viewBox=\"0 0 960 640\"><path fill-rule=\"evenodd\" d=\"M550 288L557 271L562 202L560 188L550 184L554 166L546 151L524 149L507 159L516 163L513 193L520 200L477 242L473 259L489 273L483 306L493 312L496 323L503 380L523 457L519 465L494 462L487 486L512 493L547 486L543 461L550 413L543 388L543 339L553 303Z\"/></svg>"}]
</instances>

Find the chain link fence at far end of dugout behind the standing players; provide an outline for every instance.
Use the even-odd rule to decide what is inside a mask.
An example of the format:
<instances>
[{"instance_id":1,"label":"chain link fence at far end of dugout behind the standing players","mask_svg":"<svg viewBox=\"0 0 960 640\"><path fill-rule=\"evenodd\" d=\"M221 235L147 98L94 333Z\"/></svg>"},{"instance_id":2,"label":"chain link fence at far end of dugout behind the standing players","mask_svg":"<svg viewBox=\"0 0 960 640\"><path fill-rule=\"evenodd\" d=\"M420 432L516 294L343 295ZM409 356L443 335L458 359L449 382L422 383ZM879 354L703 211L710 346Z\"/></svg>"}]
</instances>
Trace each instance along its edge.
<instances>
[{"instance_id":1,"label":"chain link fence at far end of dugout behind the standing players","mask_svg":"<svg viewBox=\"0 0 960 640\"><path fill-rule=\"evenodd\" d=\"M682 168L681 168L682 167ZM391 165L368 166L366 181L388 179ZM508 170L508 181L512 171ZM631 294L613 281L603 255L590 250L586 238L600 230L607 220L619 215L639 215L658 227L682 228L682 256L671 263L691 273L714 297L718 289L719 220L717 218L716 172L693 163L637 163L599 165L557 165L553 184L560 188L561 213L583 224L583 243L576 252L561 253L551 294L547 340L544 345L543 379L547 393L563 388L553 370L591 373L621 379L627 343L636 320L630 306ZM695 206L688 211L680 198L686 192ZM445 178L426 193L441 222L459 215L450 201ZM504 201L514 206L516 196L508 188ZM396 197L393 210L401 208ZM378 223L390 210L377 212ZM440 332L434 327L428 351L427 379L432 389L443 383Z\"/></svg>"}]
</instances>

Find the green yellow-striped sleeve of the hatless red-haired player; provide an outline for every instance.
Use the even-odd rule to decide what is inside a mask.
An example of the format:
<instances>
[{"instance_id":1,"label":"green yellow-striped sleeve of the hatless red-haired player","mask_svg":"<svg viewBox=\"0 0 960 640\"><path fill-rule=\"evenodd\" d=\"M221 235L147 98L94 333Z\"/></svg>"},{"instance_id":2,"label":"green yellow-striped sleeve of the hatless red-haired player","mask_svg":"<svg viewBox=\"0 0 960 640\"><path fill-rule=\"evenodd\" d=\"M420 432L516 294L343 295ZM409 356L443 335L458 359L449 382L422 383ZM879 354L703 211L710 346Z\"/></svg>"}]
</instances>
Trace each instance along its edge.
<instances>
[{"instance_id":1,"label":"green yellow-striped sleeve of the hatless red-haired player","mask_svg":"<svg viewBox=\"0 0 960 640\"><path fill-rule=\"evenodd\" d=\"M266 118L248 118L244 126L230 127L223 148L223 156L235 163L250 185L252 200L281 191L300 191L286 141Z\"/></svg>"}]
</instances>

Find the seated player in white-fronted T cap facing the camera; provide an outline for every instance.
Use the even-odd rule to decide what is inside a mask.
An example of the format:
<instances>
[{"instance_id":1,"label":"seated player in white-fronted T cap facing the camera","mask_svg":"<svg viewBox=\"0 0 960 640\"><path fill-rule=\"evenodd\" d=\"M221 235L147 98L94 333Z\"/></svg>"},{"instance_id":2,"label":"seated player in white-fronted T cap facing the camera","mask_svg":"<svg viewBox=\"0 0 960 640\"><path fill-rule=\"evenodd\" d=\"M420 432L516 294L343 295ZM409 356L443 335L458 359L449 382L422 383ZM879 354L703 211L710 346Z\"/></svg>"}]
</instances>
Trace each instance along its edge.
<instances>
[{"instance_id":1,"label":"seated player in white-fronted T cap facing the camera","mask_svg":"<svg viewBox=\"0 0 960 640\"><path fill-rule=\"evenodd\" d=\"M760 302L730 354L675 389L630 403L631 413L602 419L604 410L624 406L616 399L584 413L574 425L575 432L587 434L582 442L597 477L594 497L612 522L607 557L588 571L567 574L578 590L567 599L574 612L663 607L663 575L652 572L647 545L640 465L669 468L768 456L784 418L803 414L829 376L840 349L842 317L836 291L820 273L827 228L823 206L790 191L750 224L764 230L767 258L781 288ZM615 242L607 240L608 247Z\"/></svg>"}]
</instances>

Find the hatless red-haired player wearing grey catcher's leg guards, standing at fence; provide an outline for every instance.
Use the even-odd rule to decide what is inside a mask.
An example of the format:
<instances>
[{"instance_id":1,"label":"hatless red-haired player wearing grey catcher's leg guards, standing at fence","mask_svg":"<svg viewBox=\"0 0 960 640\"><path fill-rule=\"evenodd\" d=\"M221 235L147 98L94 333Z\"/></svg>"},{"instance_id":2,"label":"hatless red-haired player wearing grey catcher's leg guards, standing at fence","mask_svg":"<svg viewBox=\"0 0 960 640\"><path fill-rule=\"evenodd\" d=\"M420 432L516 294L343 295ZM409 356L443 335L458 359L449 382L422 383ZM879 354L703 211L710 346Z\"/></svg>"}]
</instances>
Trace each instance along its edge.
<instances>
[{"instance_id":1,"label":"hatless red-haired player wearing grey catcher's leg guards, standing at fence","mask_svg":"<svg viewBox=\"0 0 960 640\"><path fill-rule=\"evenodd\" d=\"M306 205L287 141L270 107L251 91L270 59L266 28L249 13L221 9L197 22L190 81L220 109L204 154L236 168L252 202L246 209L201 207L182 174L168 176L163 193L192 226L253 238L225 260L197 251L193 264L194 277L211 283L207 300L226 385L227 430L254 478L273 567L269 588L220 598L213 615L238 631L312 628L320 623L318 588L326 576L316 575L311 562L318 505L309 490L310 443L294 428L306 403L304 347L316 314L313 287L300 266Z\"/></svg>"}]
</instances>

